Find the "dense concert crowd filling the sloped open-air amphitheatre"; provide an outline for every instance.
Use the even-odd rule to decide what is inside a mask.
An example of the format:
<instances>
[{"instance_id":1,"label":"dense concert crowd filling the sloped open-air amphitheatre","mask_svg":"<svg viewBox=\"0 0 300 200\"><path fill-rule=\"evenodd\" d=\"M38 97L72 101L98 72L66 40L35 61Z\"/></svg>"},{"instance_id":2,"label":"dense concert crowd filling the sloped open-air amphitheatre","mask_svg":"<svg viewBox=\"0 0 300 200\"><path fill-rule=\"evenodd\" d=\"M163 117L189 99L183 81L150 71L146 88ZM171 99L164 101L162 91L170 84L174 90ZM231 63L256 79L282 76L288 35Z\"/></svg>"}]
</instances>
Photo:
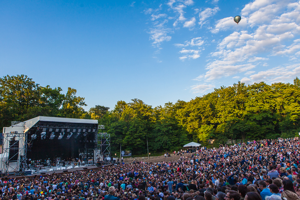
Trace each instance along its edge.
<instances>
[{"instance_id":1,"label":"dense concert crowd filling the sloped open-air amphitheatre","mask_svg":"<svg viewBox=\"0 0 300 200\"><path fill-rule=\"evenodd\" d=\"M10 178L0 200L300 200L299 142L265 139L202 147L168 163Z\"/></svg>"}]
</instances>

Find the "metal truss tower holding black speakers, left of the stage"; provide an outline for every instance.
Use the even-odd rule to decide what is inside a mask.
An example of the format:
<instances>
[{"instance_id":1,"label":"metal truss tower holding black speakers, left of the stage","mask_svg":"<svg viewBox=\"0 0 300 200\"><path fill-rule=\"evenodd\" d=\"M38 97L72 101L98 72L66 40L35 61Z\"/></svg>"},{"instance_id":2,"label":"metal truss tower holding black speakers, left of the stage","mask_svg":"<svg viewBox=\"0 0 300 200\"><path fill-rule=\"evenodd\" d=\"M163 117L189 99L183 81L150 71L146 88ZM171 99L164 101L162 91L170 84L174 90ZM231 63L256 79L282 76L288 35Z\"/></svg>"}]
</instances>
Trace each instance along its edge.
<instances>
[{"instance_id":1,"label":"metal truss tower holding black speakers, left of the stage","mask_svg":"<svg viewBox=\"0 0 300 200\"><path fill-rule=\"evenodd\" d=\"M4 156L2 157L1 173L4 175L8 175L9 173L24 174L24 171L26 169L26 158L27 158L27 132L24 133L25 122L12 121L11 126L23 127L23 129L21 133L18 133L18 131L5 133L5 129L4 129L3 154L2 154ZM17 147L14 147L14 145L16 145L17 143L19 145ZM11 155L9 156L9 154ZM18 155L18 157L16 160L14 160L13 158L16 155Z\"/></svg>"}]
</instances>

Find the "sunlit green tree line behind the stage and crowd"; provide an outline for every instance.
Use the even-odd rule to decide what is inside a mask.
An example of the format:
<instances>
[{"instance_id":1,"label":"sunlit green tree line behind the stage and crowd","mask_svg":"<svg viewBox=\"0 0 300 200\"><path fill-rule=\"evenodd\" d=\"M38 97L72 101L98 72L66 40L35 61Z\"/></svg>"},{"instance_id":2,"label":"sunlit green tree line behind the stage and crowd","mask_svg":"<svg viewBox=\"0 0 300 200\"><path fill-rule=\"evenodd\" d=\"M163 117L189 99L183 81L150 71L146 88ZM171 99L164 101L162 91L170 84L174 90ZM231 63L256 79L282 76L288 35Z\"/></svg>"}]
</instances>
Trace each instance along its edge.
<instances>
[{"instance_id":1,"label":"sunlit green tree line behind the stage and crowd","mask_svg":"<svg viewBox=\"0 0 300 200\"><path fill-rule=\"evenodd\" d=\"M42 87L25 75L0 78L0 125L37 116L97 119L111 134L111 150L133 154L182 148L187 142L224 144L228 139L274 139L300 132L300 80L294 83L238 82L188 102L152 107L142 100L118 101L110 108L84 110L76 89Z\"/></svg>"}]
</instances>

